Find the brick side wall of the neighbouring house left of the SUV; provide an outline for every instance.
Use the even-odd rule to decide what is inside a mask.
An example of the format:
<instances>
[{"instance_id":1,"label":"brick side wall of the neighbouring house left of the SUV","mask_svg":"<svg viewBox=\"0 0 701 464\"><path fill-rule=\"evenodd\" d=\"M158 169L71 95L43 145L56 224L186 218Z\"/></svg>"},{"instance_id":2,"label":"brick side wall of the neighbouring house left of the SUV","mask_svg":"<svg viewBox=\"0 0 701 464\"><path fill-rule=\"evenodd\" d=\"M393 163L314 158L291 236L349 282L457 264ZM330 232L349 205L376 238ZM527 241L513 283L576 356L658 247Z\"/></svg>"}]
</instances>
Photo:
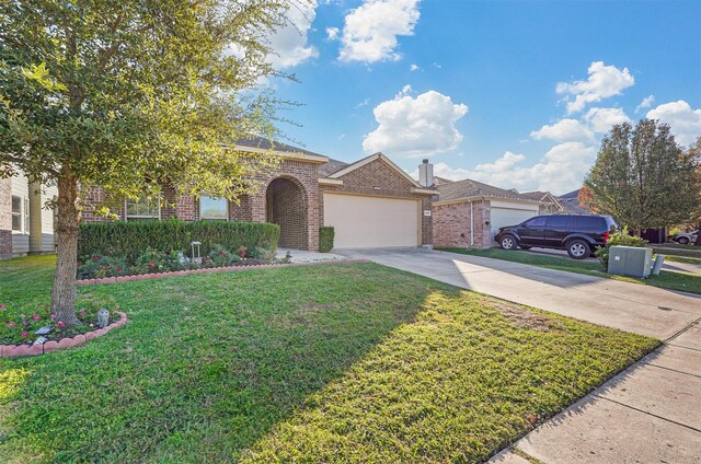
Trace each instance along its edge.
<instances>
[{"instance_id":1,"label":"brick side wall of the neighbouring house left of the SUV","mask_svg":"<svg viewBox=\"0 0 701 464\"><path fill-rule=\"evenodd\" d=\"M487 248L492 246L490 225L490 202L473 201L473 240L470 236L470 202L433 206L433 239L437 247Z\"/></svg>"}]
</instances>

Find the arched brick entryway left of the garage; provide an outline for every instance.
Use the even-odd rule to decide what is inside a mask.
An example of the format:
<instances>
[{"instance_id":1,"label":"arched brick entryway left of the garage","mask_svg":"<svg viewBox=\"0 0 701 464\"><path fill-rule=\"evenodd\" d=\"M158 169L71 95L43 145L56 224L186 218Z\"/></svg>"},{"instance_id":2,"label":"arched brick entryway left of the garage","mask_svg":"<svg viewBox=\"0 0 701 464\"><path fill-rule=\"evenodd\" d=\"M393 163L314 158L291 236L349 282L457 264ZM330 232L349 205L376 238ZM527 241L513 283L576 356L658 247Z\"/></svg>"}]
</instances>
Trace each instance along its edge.
<instances>
[{"instance_id":1,"label":"arched brick entryway left of the garage","mask_svg":"<svg viewBox=\"0 0 701 464\"><path fill-rule=\"evenodd\" d=\"M279 246L308 250L307 192L296 179L277 177L267 186L266 221L280 227Z\"/></svg>"}]
</instances>

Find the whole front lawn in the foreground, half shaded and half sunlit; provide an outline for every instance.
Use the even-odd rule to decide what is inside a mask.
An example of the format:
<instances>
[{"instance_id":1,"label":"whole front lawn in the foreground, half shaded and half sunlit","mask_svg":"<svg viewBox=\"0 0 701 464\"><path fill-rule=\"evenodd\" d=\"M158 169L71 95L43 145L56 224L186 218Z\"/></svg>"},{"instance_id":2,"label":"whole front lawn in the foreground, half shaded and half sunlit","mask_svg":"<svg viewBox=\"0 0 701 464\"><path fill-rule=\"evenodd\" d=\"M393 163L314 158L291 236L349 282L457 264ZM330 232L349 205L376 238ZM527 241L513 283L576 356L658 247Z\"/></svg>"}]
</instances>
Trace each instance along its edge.
<instances>
[{"instance_id":1,"label":"whole front lawn in the foreground, half shaded and half sunlit","mask_svg":"<svg viewBox=\"0 0 701 464\"><path fill-rule=\"evenodd\" d=\"M51 257L0 263L45 304ZM375 264L81 287L129 323L0 359L0 462L484 461L657 346Z\"/></svg>"}]
</instances>

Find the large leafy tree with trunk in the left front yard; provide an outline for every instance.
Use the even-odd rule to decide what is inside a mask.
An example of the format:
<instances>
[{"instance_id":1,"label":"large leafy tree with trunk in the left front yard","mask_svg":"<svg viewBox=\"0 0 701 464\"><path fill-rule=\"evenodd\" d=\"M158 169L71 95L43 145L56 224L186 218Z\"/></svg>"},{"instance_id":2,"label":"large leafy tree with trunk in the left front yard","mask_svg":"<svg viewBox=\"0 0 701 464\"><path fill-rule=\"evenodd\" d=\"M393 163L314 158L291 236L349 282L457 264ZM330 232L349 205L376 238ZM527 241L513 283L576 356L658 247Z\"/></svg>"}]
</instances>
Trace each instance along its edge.
<instances>
[{"instance_id":1,"label":"large leafy tree with trunk in the left front yard","mask_svg":"<svg viewBox=\"0 0 701 464\"><path fill-rule=\"evenodd\" d=\"M306 1L306 0L296 0ZM272 136L267 37L286 0L12 0L0 4L0 175L56 184L51 311L76 324L87 186L113 198L235 198L274 163L227 142ZM279 74L278 74L279 76Z\"/></svg>"}]
</instances>

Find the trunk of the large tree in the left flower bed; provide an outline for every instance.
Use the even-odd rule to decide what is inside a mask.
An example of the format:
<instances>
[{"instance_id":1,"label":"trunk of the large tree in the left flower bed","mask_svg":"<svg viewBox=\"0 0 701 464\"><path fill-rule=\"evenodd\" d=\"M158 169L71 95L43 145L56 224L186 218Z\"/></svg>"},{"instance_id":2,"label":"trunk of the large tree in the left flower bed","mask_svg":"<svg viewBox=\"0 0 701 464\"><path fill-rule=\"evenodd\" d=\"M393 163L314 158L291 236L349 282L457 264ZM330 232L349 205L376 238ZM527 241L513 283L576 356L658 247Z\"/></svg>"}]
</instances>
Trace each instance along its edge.
<instances>
[{"instance_id":1,"label":"trunk of the large tree in the left flower bed","mask_svg":"<svg viewBox=\"0 0 701 464\"><path fill-rule=\"evenodd\" d=\"M76 315L76 270L78 259L78 232L80 210L78 208L78 179L70 166L61 166L58 177L56 235L56 274L51 290L51 314L67 326L79 324Z\"/></svg>"}]
</instances>

